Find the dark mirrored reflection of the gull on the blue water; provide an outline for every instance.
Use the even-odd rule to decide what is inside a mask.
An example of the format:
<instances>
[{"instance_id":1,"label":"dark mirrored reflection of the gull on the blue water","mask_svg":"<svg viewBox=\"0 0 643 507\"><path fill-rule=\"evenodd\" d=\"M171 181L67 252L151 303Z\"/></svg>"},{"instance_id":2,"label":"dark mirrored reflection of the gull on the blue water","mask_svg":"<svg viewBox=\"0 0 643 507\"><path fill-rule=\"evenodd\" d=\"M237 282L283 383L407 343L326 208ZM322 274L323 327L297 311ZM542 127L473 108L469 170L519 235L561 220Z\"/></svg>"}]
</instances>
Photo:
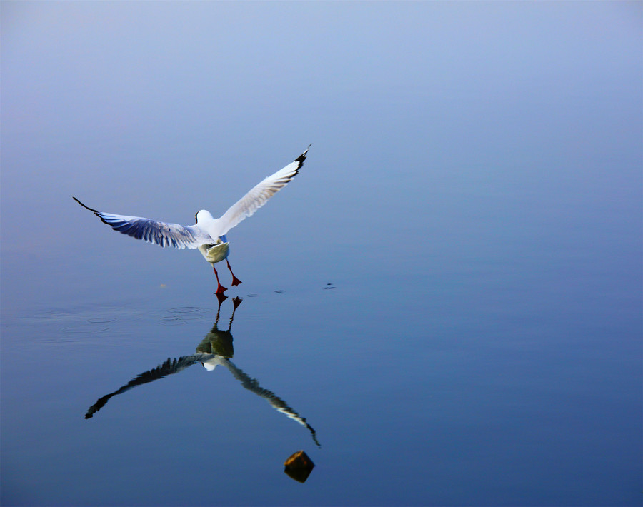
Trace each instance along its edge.
<instances>
[{"instance_id":1,"label":"dark mirrored reflection of the gull on the blue water","mask_svg":"<svg viewBox=\"0 0 643 507\"><path fill-rule=\"evenodd\" d=\"M257 381L256 378L252 378L240 368L237 368L234 363L230 361L230 358L234 356L231 333L232 321L234 321L236 308L239 307L242 300L238 297L232 300L234 306L228 328L227 330L222 330L219 329L219 313L221 311L221 303L226 300L226 296L221 294L217 294L217 296L219 298L219 308L216 311L214 326L212 326L210 332L206 334L203 340L201 340L201 343L196 347L196 353L191 356L181 356L174 359L168 358L167 361L159 364L156 368L140 373L113 393L106 394L102 398L99 398L94 405L89 407L89 410L85 414L85 418L89 419L94 416L94 413L103 408L113 396L129 391L131 388L136 386L141 386L144 383L159 380L159 378L164 378L168 375L174 375L174 373L179 373L196 363L201 363L208 371L212 371L216 366L220 365L227 368L230 373L232 373L232 376L241 382L241 386L244 386L244 388L252 391L257 396L264 398L276 411L283 413L287 417L301 424L301 426L304 426L308 431L310 431L311 437L316 443L316 446L321 447L319 445L319 441L317 441L314 429L306 422L305 418L301 417L299 413L294 411L293 408L288 406L288 403L279 398L279 396L276 396L275 393L259 386L259 381Z\"/></svg>"}]
</instances>

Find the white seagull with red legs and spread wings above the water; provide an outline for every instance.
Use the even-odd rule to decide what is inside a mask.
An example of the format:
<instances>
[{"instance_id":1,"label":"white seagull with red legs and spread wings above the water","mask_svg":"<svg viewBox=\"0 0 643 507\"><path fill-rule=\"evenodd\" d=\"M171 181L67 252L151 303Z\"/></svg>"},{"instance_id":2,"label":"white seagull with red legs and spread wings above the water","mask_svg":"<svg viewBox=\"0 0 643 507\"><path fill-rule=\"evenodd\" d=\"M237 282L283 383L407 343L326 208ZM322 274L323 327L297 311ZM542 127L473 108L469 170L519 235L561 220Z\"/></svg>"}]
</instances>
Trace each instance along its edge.
<instances>
[{"instance_id":1,"label":"white seagull with red legs and spread wings above the water","mask_svg":"<svg viewBox=\"0 0 643 507\"><path fill-rule=\"evenodd\" d=\"M294 161L279 169L276 173L267 176L261 183L254 186L245 196L241 197L239 201L230 206L221 217L215 219L212 214L201 209L194 219L196 224L193 226L181 226L179 224L169 224L157 220L145 219L142 216L128 216L116 215L112 213L104 213L96 209L90 208L81 203L76 197L74 201L83 206L89 211L92 211L96 216L101 219L104 224L111 226L114 231L119 231L121 234L127 234L136 239L143 239L148 243L156 244L161 247L174 246L176 249L199 249L205 260L211 263L214 269L214 276L216 276L216 294L222 294L226 287L221 285L219 281L219 273L216 272L214 264L221 261L226 261L230 274L232 275L232 286L238 286L241 283L239 278L234 276L232 268L227 260L230 254L230 244L226 238L227 232L234 226L239 224L240 221L251 216L256 210L266 204L279 190L299 173L299 169L304 165L306 160L306 151L299 155Z\"/></svg>"}]
</instances>

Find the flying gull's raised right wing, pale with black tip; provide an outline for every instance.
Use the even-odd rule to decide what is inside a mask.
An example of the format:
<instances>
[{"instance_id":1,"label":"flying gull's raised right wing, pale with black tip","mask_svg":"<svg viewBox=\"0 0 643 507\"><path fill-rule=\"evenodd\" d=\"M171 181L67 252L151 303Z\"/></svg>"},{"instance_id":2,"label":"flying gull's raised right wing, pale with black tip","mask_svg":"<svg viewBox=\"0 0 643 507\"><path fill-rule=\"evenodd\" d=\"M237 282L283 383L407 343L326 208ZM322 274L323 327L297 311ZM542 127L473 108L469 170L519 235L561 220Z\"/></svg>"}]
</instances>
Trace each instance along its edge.
<instances>
[{"instance_id":1,"label":"flying gull's raised right wing, pale with black tip","mask_svg":"<svg viewBox=\"0 0 643 507\"><path fill-rule=\"evenodd\" d=\"M236 226L236 224L239 224L241 220L245 219L246 216L254 214L256 210L266 204L268 199L283 189L284 186L299 173L299 169L304 165L309 148L310 146L306 148L304 153L284 167L284 169L279 169L275 174L268 176L264 181L256 185L254 189L239 199L239 201L236 201L236 203L216 221L216 236L226 234L226 232Z\"/></svg>"}]
</instances>

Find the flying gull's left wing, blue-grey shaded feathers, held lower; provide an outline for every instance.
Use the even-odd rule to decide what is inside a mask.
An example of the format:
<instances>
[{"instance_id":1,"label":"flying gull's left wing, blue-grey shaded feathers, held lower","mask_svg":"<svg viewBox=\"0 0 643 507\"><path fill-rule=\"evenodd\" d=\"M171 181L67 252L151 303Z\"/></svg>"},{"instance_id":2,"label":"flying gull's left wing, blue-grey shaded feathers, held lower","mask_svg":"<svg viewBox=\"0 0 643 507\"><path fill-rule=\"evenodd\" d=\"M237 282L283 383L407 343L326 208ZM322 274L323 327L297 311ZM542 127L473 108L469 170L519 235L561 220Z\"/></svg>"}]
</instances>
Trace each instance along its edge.
<instances>
[{"instance_id":1,"label":"flying gull's left wing, blue-grey shaded feathers, held lower","mask_svg":"<svg viewBox=\"0 0 643 507\"><path fill-rule=\"evenodd\" d=\"M114 231L155 245L174 246L175 249L196 249L202 244L215 243L215 240L198 226L166 224L166 222L144 219L141 216L103 213L85 206L75 197L74 201L89 211L93 211L104 224L111 226Z\"/></svg>"}]
</instances>

